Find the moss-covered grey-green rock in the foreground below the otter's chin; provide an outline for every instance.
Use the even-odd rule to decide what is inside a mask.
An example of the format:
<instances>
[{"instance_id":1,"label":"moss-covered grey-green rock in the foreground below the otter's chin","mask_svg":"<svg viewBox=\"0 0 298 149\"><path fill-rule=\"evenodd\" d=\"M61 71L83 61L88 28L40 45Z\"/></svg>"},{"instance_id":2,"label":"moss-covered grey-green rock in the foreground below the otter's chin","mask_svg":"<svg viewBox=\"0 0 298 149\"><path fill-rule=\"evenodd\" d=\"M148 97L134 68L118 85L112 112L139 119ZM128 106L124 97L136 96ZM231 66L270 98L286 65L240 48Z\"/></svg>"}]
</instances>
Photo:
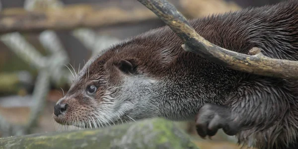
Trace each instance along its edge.
<instances>
[{"instance_id":1,"label":"moss-covered grey-green rock in the foreground below the otter's chin","mask_svg":"<svg viewBox=\"0 0 298 149\"><path fill-rule=\"evenodd\" d=\"M154 118L68 132L0 139L0 149L198 149L173 122Z\"/></svg>"}]
</instances>

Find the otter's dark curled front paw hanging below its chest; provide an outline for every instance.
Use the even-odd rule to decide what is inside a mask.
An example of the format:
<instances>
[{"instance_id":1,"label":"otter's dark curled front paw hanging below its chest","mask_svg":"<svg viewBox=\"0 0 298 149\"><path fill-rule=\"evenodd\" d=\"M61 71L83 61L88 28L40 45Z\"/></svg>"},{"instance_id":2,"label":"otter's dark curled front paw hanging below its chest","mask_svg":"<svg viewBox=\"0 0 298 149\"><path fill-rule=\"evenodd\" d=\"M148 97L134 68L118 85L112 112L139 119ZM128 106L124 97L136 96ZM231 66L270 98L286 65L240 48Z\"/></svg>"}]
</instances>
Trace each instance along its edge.
<instances>
[{"instance_id":1,"label":"otter's dark curled front paw hanging below its chest","mask_svg":"<svg viewBox=\"0 0 298 149\"><path fill-rule=\"evenodd\" d=\"M199 136L205 138L214 136L219 129L224 133L233 136L239 130L238 123L231 119L231 112L222 105L207 103L196 116L196 129Z\"/></svg>"}]
</instances>

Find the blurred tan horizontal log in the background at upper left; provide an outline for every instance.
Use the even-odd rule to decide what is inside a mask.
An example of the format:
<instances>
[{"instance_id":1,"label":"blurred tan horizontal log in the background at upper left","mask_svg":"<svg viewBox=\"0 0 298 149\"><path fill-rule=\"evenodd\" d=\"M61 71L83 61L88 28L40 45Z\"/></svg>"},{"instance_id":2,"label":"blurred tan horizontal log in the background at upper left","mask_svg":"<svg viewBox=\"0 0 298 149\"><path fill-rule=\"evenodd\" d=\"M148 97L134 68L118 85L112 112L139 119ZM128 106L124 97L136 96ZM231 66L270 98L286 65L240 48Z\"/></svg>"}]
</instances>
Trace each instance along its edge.
<instances>
[{"instance_id":1,"label":"blurred tan horizontal log in the background at upper left","mask_svg":"<svg viewBox=\"0 0 298 149\"><path fill-rule=\"evenodd\" d=\"M136 7L128 10L117 6L104 7L99 4L72 4L63 8L30 11L23 8L8 8L0 13L0 33L102 27L155 18L157 17L154 13L146 8Z\"/></svg>"}]
</instances>

